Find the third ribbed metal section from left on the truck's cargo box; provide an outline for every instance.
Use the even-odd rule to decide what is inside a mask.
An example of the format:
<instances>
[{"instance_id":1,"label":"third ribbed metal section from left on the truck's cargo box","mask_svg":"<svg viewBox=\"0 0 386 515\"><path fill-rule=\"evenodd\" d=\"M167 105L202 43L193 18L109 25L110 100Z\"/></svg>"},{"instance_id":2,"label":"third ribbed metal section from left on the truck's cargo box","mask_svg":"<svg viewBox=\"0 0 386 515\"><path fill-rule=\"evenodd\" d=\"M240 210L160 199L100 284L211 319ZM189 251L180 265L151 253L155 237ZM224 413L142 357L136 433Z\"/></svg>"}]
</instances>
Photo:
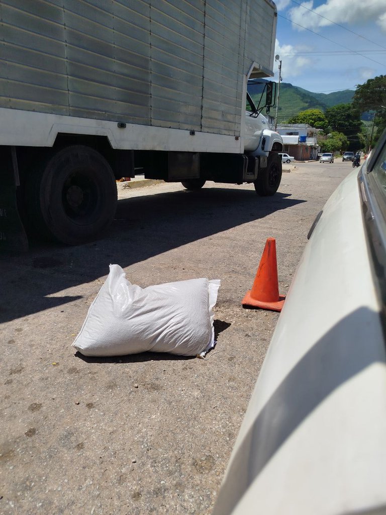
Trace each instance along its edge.
<instances>
[{"instance_id":1,"label":"third ribbed metal section from left on the truck's cargo box","mask_svg":"<svg viewBox=\"0 0 386 515\"><path fill-rule=\"evenodd\" d=\"M201 130L203 5L151 2L152 125Z\"/></svg>"}]
</instances>

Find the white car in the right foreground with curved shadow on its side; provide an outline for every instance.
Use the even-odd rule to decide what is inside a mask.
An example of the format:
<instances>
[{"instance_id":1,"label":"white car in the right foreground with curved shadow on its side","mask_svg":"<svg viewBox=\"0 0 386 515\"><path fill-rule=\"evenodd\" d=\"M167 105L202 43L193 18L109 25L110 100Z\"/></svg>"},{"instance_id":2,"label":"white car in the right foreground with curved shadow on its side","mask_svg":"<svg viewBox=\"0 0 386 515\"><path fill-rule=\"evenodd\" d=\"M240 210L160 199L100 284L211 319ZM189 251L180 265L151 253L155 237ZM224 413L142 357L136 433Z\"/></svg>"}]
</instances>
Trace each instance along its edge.
<instances>
[{"instance_id":1,"label":"white car in the right foreground with curved shadow on its side","mask_svg":"<svg viewBox=\"0 0 386 515\"><path fill-rule=\"evenodd\" d=\"M214 515L386 512L385 171L386 131L312 224Z\"/></svg>"}]
</instances>

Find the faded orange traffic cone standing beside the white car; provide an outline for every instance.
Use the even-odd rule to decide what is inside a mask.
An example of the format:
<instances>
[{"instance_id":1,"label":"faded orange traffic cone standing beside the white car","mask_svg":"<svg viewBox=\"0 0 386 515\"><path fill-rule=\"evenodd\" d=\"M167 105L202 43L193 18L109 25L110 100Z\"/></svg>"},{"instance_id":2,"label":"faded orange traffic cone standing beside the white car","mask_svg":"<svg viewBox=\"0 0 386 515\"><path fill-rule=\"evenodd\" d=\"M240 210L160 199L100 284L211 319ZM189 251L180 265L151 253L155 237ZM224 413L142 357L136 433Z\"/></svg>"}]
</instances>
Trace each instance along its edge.
<instances>
[{"instance_id":1,"label":"faded orange traffic cone standing beside the white car","mask_svg":"<svg viewBox=\"0 0 386 515\"><path fill-rule=\"evenodd\" d=\"M252 289L245 294L242 305L282 311L284 299L279 295L275 238L267 238Z\"/></svg>"}]
</instances>

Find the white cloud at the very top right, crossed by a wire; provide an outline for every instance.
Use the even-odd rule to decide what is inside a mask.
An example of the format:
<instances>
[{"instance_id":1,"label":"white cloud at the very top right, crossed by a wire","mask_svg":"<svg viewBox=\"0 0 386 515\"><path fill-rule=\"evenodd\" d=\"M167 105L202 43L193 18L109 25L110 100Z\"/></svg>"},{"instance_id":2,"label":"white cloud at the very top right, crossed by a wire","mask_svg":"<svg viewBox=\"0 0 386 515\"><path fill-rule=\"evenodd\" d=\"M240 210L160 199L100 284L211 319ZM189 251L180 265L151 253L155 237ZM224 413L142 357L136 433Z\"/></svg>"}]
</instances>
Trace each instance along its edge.
<instances>
[{"instance_id":1,"label":"white cloud at the very top right, crossed by a wire","mask_svg":"<svg viewBox=\"0 0 386 515\"><path fill-rule=\"evenodd\" d=\"M289 18L303 27L317 31L321 27L332 25L331 22L356 24L374 21L386 32L385 0L327 0L325 4L313 8L313 0L303 2L303 7L294 7L289 11ZM321 18L318 14L327 18ZM295 28L301 30L300 27Z\"/></svg>"}]
</instances>

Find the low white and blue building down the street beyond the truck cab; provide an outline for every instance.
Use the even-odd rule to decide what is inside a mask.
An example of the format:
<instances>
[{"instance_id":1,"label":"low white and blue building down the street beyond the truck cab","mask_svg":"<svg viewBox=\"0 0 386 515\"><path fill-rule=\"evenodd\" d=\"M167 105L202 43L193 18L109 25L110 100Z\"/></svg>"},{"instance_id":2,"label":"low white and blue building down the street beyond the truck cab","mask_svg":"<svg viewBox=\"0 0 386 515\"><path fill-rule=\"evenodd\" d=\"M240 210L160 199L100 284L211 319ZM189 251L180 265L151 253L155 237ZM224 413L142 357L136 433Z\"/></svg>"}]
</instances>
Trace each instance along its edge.
<instances>
[{"instance_id":1,"label":"low white and blue building down the street beyond the truck cab","mask_svg":"<svg viewBox=\"0 0 386 515\"><path fill-rule=\"evenodd\" d=\"M283 138L283 152L293 156L296 161L318 158L318 134L322 129L308 124L280 124L276 130Z\"/></svg>"}]
</instances>

